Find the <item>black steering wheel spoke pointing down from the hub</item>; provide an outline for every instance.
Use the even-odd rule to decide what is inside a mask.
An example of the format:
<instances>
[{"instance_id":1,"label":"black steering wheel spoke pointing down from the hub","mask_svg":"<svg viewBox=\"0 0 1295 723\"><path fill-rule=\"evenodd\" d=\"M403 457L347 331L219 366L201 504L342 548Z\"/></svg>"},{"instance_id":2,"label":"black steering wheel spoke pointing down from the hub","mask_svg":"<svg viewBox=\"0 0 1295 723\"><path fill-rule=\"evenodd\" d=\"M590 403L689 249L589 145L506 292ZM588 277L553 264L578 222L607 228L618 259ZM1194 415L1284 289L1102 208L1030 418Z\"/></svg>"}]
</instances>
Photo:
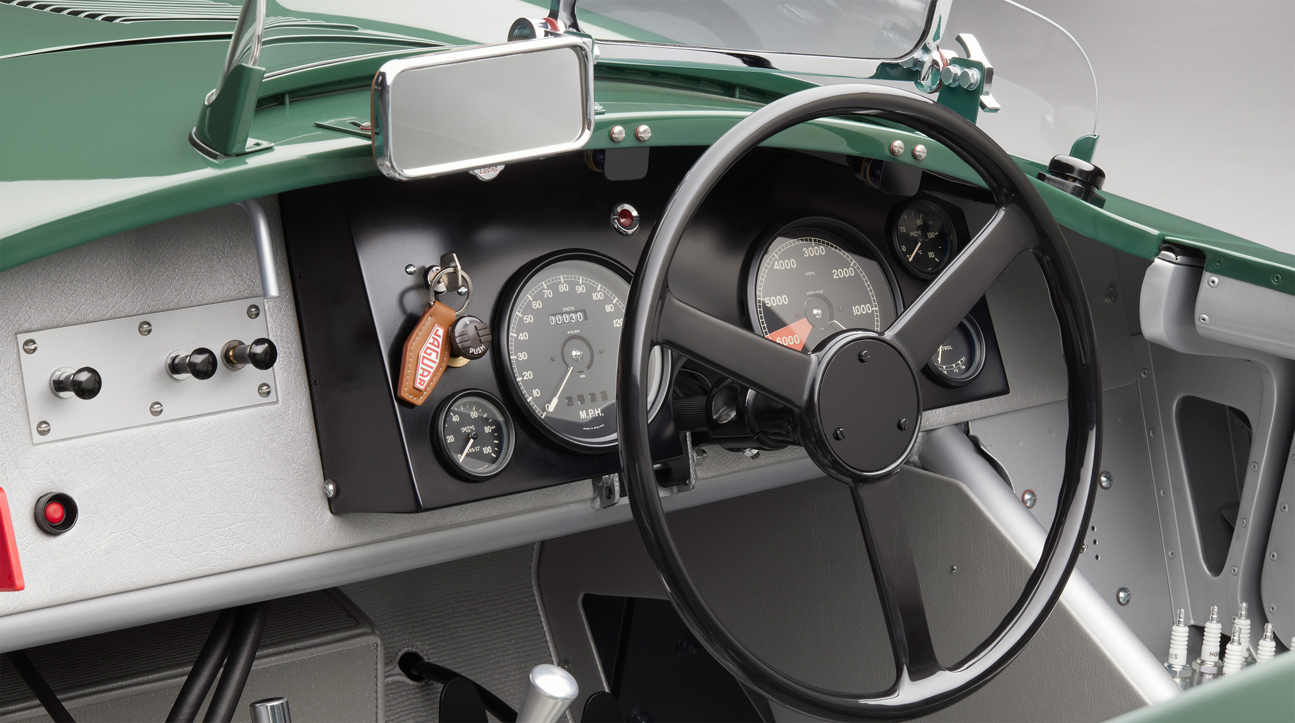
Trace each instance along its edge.
<instances>
[{"instance_id":1,"label":"black steering wheel spoke pointing down from the hub","mask_svg":"<svg viewBox=\"0 0 1295 723\"><path fill-rule=\"evenodd\" d=\"M899 483L891 474L882 479L853 482L850 490L895 653L896 684L930 678L944 667L935 658L931 644L917 562L900 509Z\"/></svg>"}]
</instances>

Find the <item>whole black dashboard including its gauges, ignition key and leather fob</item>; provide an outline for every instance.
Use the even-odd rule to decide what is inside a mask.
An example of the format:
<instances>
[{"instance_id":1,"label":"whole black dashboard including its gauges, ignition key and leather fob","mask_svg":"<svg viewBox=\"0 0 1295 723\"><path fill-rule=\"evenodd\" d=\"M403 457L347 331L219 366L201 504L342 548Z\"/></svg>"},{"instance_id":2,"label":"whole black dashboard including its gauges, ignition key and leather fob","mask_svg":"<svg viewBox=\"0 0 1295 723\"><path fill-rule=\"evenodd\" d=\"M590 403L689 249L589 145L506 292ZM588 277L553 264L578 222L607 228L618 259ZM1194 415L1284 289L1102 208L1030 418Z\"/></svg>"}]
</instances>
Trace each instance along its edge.
<instances>
[{"instance_id":1,"label":"whole black dashboard including its gauges, ignition key and leather fob","mask_svg":"<svg viewBox=\"0 0 1295 723\"><path fill-rule=\"evenodd\" d=\"M569 154L490 180L281 194L332 512L420 512L619 472L616 352L632 270L699 153L655 148L644 178L614 183L605 157ZM896 193L881 162L851 161L751 153L693 220L671 290L805 352L843 329L887 328L992 200L934 174ZM444 339L427 333L434 308ZM689 443L794 442L742 419L754 393L670 350L651 362L663 487L688 482ZM983 299L921 385L926 408L1009 391Z\"/></svg>"}]
</instances>

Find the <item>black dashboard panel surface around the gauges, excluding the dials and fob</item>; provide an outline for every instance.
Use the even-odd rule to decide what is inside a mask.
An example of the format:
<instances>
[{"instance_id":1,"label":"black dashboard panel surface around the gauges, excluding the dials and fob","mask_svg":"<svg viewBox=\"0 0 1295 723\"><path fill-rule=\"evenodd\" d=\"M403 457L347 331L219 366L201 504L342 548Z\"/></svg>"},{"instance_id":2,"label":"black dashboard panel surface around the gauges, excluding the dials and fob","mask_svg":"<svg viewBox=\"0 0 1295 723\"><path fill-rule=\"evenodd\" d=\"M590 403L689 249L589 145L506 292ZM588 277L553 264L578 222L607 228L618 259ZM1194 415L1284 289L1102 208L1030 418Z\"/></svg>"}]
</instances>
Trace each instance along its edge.
<instances>
[{"instance_id":1,"label":"black dashboard panel surface around the gauges, excluding the dials and fob","mask_svg":"<svg viewBox=\"0 0 1295 723\"><path fill-rule=\"evenodd\" d=\"M699 153L653 149L646 178L633 181L609 181L576 153L512 165L491 181L467 174L407 183L369 178L281 194L324 473L337 486L332 511L418 512L619 470L614 448L563 448L531 424L504 389L512 380L497 350L447 369L421 407L398 400L391 380L399 374L404 339L427 303L422 273L443 253L456 253L473 277L467 312L491 321L493 343L505 343L497 324L510 302L506 292L524 268L561 250L593 251L635 268L670 194ZM963 241L969 227L982 227L992 212L982 189L929 174L918 197L939 203ZM756 150L707 198L676 255L671 288L684 301L751 328L745 297L756 249L787 223L825 216L870 241L903 304L927 285L890 271L899 266L887 223L904 201L869 188L844 157ZM610 223L622 203L641 215L632 236ZM407 273L408 264L416 273ZM927 407L1008 391L985 304L973 314L989 347L984 371L958 389L923 376ZM430 438L440 403L464 389L504 400L515 426L512 461L482 482L451 474ZM670 404L654 419L651 434L655 459L682 455Z\"/></svg>"}]
</instances>

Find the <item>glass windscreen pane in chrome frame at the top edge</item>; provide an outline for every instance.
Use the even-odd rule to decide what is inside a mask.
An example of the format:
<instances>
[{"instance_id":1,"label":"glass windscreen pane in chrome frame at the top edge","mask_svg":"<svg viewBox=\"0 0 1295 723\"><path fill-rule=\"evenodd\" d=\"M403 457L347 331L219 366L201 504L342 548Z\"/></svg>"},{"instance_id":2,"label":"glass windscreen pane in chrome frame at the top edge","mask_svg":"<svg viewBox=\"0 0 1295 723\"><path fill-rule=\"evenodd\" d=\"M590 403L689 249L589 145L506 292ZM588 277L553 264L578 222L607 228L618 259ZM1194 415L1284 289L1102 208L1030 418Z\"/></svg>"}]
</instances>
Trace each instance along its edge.
<instances>
[{"instance_id":1,"label":"glass windscreen pane in chrome frame at the top edge","mask_svg":"<svg viewBox=\"0 0 1295 723\"><path fill-rule=\"evenodd\" d=\"M579 0L580 30L730 51L897 58L922 40L929 0Z\"/></svg>"}]
</instances>

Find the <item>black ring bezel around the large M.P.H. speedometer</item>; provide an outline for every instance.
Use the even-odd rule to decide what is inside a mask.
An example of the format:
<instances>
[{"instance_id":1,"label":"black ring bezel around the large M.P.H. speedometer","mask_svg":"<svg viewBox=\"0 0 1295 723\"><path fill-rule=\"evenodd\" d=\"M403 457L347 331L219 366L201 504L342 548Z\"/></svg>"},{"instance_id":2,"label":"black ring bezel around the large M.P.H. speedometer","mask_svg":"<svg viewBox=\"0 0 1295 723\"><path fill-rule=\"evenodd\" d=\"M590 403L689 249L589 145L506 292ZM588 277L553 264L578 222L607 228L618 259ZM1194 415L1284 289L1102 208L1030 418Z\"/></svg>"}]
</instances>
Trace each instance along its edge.
<instances>
[{"instance_id":1,"label":"black ring bezel around the large M.P.H. speedometer","mask_svg":"<svg viewBox=\"0 0 1295 723\"><path fill-rule=\"evenodd\" d=\"M605 257L594 251L585 251L576 249L566 249L561 251L554 251L552 254L545 254L537 259L531 260L528 264L523 266L513 276L513 279L509 280L508 285L505 286L506 292L501 295L501 298L508 299L508 302L499 304L495 310L493 329L499 330L496 337L499 338L499 343L493 343L491 346L496 350L495 364L500 374L500 386L508 389L509 400L513 402L513 404L518 409L521 409L522 417L526 419L534 429L536 429L550 442L554 442L556 444L565 447L567 450L583 453L603 453L607 452L609 450L614 450L616 444L620 442L619 430L614 435L598 439L596 442L591 442L587 439L575 439L567 437L566 434L562 434L561 431L544 424L544 420L535 413L535 409L532 409L531 406L527 403L527 400L522 396L522 391L514 380L515 373L513 369L513 360L509 359L509 349L508 349L509 320L512 320L513 312L515 311L517 303L521 299L522 294L524 294L526 290L532 285L534 280L540 275L545 273L548 268L553 267L554 264L571 260L596 263L598 266L607 268L616 276L620 276L620 279L623 279L625 284L633 284L635 275L629 270L629 267L627 267L625 264L618 262L611 257ZM620 345L618 343L616 354L619 355L619 352L620 352ZM666 390L670 386L667 381L671 369L671 354L670 350L663 347L660 347L660 354L662 354L660 382L658 384L655 394L649 404L649 420L657 417L657 413L660 411L663 402L667 396Z\"/></svg>"}]
</instances>

